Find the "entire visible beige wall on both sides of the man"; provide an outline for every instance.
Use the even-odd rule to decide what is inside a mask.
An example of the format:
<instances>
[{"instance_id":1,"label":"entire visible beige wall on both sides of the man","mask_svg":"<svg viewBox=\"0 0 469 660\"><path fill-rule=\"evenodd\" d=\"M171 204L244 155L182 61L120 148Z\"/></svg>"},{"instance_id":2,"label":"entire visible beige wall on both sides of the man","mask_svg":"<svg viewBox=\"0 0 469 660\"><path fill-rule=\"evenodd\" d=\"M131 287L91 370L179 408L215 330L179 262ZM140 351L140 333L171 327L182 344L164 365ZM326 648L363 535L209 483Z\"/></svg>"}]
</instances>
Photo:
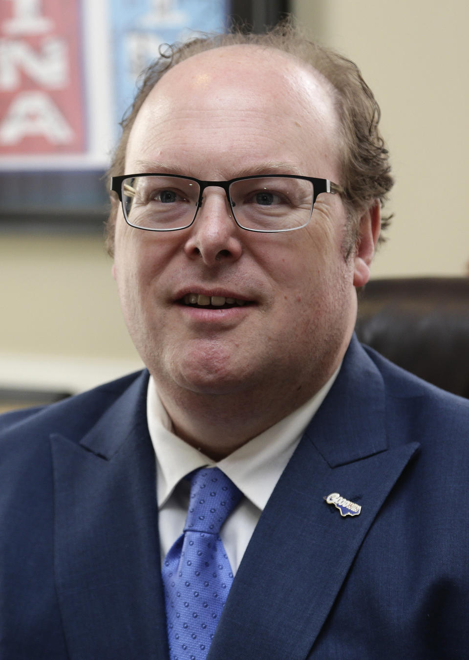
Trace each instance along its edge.
<instances>
[{"instance_id":1,"label":"entire visible beige wall on both sides of the man","mask_svg":"<svg viewBox=\"0 0 469 660\"><path fill-rule=\"evenodd\" d=\"M463 275L469 261L469 4L296 0L360 65L396 177L375 276ZM138 368L99 236L0 234L0 386L90 387Z\"/></svg>"}]
</instances>

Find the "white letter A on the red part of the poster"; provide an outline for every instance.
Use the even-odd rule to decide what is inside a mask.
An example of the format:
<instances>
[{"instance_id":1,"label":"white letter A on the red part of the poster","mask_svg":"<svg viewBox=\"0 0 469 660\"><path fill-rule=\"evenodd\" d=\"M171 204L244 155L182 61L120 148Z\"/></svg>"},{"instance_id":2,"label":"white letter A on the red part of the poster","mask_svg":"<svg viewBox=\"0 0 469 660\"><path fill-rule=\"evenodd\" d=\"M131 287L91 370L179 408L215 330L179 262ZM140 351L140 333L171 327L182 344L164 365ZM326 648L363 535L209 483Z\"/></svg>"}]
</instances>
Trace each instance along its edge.
<instances>
[{"instance_id":1,"label":"white letter A on the red part of the poster","mask_svg":"<svg viewBox=\"0 0 469 660\"><path fill-rule=\"evenodd\" d=\"M0 123L0 145L17 145L28 136L44 137L53 145L64 145L73 139L70 125L44 92L21 92L15 96Z\"/></svg>"}]
</instances>

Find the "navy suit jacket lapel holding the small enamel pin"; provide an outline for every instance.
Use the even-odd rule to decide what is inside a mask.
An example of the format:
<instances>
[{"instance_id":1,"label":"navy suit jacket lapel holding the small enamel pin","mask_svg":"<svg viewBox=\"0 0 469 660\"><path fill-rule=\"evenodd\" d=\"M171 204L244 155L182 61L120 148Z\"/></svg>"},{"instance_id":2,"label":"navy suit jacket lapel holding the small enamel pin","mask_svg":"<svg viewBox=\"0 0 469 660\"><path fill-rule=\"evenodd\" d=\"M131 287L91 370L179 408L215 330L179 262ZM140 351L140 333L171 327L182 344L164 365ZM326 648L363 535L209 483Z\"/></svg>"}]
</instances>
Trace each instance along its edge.
<instances>
[{"instance_id":1,"label":"navy suit jacket lapel holding the small enamel pin","mask_svg":"<svg viewBox=\"0 0 469 660\"><path fill-rule=\"evenodd\" d=\"M353 385L352 385L353 382ZM303 660L418 443L387 449L381 374L352 341L239 566L207 660ZM338 492L361 505L342 517Z\"/></svg>"}]
</instances>

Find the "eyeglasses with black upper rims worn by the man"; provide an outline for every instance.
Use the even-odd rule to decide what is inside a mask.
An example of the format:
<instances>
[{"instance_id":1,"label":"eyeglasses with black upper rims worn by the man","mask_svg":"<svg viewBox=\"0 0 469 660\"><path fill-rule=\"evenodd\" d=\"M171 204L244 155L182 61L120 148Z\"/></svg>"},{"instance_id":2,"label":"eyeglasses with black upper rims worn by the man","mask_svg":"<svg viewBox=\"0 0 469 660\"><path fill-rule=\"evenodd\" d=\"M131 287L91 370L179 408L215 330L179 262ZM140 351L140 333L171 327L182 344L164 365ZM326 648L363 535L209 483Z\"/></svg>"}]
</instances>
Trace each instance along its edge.
<instances>
[{"instance_id":1,"label":"eyeglasses with black upper rims worn by the man","mask_svg":"<svg viewBox=\"0 0 469 660\"><path fill-rule=\"evenodd\" d=\"M127 224L152 232L174 232L194 222L206 187L223 188L236 224L250 232L290 232L305 227L317 196L340 193L328 179L291 174L199 181L178 174L113 176Z\"/></svg>"}]
</instances>

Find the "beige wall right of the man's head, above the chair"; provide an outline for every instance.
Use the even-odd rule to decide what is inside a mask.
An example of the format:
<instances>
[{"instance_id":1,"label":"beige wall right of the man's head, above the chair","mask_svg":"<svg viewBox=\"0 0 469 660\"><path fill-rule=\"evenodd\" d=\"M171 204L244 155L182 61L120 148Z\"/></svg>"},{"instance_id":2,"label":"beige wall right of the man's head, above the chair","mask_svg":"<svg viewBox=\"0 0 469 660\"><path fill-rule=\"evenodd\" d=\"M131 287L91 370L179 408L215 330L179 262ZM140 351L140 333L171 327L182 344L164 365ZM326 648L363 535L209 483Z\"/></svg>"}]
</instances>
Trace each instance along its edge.
<instances>
[{"instance_id":1,"label":"beige wall right of the man's head, above the chair","mask_svg":"<svg viewBox=\"0 0 469 660\"><path fill-rule=\"evenodd\" d=\"M374 276L468 275L469 3L293 5L315 38L356 61L381 105L396 185Z\"/></svg>"}]
</instances>

